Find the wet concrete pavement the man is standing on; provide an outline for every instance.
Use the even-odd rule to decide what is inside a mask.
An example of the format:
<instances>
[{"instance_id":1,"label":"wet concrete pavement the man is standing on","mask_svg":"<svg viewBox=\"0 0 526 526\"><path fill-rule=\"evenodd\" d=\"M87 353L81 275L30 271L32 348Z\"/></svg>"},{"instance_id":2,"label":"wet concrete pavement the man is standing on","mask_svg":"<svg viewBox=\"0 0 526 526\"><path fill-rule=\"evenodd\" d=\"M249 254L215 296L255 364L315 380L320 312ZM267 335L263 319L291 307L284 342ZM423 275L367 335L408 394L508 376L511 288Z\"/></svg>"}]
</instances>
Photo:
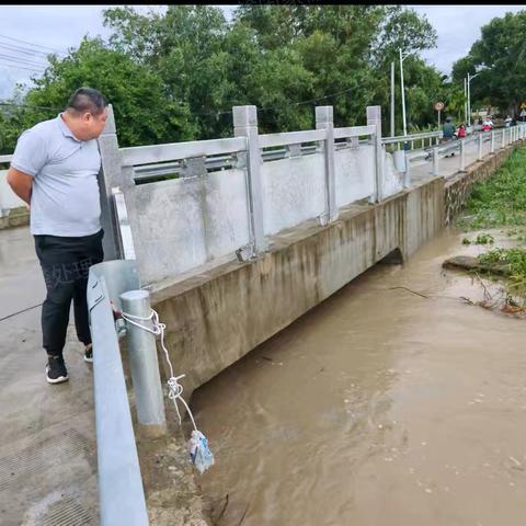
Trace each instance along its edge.
<instances>
[{"instance_id":1,"label":"wet concrete pavement the man is standing on","mask_svg":"<svg viewBox=\"0 0 526 526\"><path fill-rule=\"evenodd\" d=\"M0 319L45 297L26 227L0 231ZM48 385L39 317L37 307L0 321L0 524L95 525L91 365L70 324L65 350L70 380Z\"/></svg>"}]
</instances>

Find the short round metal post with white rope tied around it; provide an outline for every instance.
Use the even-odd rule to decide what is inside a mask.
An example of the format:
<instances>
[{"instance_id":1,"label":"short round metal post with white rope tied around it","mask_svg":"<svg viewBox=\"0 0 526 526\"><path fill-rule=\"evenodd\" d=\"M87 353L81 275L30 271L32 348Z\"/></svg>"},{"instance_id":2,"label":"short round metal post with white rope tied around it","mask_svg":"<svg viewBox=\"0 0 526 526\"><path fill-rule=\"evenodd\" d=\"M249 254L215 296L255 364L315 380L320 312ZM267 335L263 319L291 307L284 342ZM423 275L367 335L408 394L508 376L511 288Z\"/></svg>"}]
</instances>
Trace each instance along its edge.
<instances>
[{"instance_id":1,"label":"short round metal post with white rope tied around it","mask_svg":"<svg viewBox=\"0 0 526 526\"><path fill-rule=\"evenodd\" d=\"M148 318L151 312L148 290L128 290L121 295L123 312L139 318ZM135 320L134 320L135 321ZM152 329L150 320L137 320ZM164 402L162 399L156 336L140 327L126 321L129 365L134 385L137 420L146 436L158 437L167 433Z\"/></svg>"}]
</instances>

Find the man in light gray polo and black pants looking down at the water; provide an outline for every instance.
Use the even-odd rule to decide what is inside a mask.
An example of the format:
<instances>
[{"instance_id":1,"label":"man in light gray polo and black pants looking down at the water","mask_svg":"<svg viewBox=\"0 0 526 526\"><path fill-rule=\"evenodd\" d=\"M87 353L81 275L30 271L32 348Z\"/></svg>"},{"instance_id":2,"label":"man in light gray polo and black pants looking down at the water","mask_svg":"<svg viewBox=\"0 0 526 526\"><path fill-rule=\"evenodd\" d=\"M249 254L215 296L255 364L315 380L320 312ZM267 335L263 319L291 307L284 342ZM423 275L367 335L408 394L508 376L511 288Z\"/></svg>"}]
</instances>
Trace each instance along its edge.
<instances>
[{"instance_id":1,"label":"man in light gray polo and black pants looking down at the water","mask_svg":"<svg viewBox=\"0 0 526 526\"><path fill-rule=\"evenodd\" d=\"M95 139L106 118L102 93L78 89L56 118L19 137L8 172L8 183L30 205L31 233L46 283L42 333L49 384L68 380L62 351L71 299L84 359L93 361L85 293L89 267L104 256Z\"/></svg>"}]
</instances>

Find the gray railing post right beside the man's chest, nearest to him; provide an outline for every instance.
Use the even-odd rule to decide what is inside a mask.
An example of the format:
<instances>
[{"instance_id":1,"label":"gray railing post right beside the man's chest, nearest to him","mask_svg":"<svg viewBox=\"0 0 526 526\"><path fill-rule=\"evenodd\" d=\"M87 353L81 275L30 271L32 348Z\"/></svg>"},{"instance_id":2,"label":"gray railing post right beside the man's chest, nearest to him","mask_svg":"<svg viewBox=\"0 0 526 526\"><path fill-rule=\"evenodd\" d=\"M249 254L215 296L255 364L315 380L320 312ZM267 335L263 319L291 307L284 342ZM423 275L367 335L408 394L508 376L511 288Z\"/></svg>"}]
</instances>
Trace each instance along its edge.
<instances>
[{"instance_id":1,"label":"gray railing post right beside the man's chest, nearest to him","mask_svg":"<svg viewBox=\"0 0 526 526\"><path fill-rule=\"evenodd\" d=\"M118 151L117 132L113 106L107 106L107 119L101 136L98 139L101 152L101 171L99 172L99 188L101 195L101 224L104 229L104 260L118 260L119 253L118 232L115 221L112 188L124 188L121 169L121 152Z\"/></svg>"}]
</instances>

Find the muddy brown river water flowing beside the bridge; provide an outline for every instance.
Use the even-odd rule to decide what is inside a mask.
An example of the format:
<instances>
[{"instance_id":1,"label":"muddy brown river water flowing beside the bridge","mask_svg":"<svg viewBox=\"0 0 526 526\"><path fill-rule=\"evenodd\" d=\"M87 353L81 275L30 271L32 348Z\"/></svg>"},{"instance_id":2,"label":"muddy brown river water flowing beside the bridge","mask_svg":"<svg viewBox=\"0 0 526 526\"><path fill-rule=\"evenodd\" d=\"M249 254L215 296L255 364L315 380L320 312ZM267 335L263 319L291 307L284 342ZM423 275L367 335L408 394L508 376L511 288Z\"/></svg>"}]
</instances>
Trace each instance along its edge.
<instances>
[{"instance_id":1,"label":"muddy brown river water flowing beside the bridge","mask_svg":"<svg viewBox=\"0 0 526 526\"><path fill-rule=\"evenodd\" d=\"M376 265L194 393L216 525L526 524L526 321L459 299L483 297L442 268L483 250L462 237Z\"/></svg>"}]
</instances>

